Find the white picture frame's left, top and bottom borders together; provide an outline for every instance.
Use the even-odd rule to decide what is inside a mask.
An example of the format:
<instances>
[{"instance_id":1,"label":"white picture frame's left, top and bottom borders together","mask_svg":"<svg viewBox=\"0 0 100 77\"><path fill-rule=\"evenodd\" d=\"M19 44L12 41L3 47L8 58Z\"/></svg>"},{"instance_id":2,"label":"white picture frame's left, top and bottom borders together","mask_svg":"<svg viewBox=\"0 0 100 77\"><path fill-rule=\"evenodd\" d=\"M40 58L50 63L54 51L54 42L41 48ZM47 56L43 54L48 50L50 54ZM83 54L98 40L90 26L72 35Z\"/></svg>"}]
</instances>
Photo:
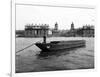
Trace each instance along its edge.
<instances>
[{"instance_id":1,"label":"white picture frame's left, top and bottom borders together","mask_svg":"<svg viewBox=\"0 0 100 77\"><path fill-rule=\"evenodd\" d=\"M62 75L65 75L66 73L69 73L70 75L71 74L75 74L75 73L82 73L82 72L88 72L88 71L91 71L91 72L94 72L96 70L92 70L92 69L87 69L87 70L69 70L69 71L53 71L53 72L31 72L31 73L15 73L15 24L16 24L16 19L15 19L15 14L16 14L16 4L25 4L25 5L37 5L37 6L53 6L53 7L71 7L71 8L83 8L83 9L96 9L95 6L91 6L91 5L71 5L71 4L61 4L61 3L47 3L45 4L44 2L43 3L40 3L40 2L35 2L35 3L24 3L24 2L21 2L21 3L18 3L16 2L16 0L12 0L11 1L11 5L12 5L12 11L11 11L11 30L12 30L12 33L11 33L11 76L12 77L33 77L33 76L36 76L36 75L40 75L40 76L45 76L47 77L48 75L52 76L52 75L56 75L58 73L59 77L61 77ZM73 72L74 71L74 72ZM73 72L73 73L72 73ZM45 74L45 75L44 75ZM68 75L69 75L68 74ZM70 76L69 75L69 76Z\"/></svg>"}]
</instances>

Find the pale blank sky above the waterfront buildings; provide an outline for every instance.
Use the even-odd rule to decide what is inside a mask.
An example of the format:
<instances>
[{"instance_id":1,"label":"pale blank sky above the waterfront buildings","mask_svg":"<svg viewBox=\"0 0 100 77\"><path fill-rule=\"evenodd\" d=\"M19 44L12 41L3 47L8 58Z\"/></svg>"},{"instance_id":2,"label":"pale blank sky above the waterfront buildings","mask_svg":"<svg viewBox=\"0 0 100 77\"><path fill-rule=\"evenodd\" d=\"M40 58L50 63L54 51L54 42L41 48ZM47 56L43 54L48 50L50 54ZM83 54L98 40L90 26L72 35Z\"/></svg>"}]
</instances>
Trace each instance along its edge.
<instances>
[{"instance_id":1,"label":"pale blank sky above the waterfront buildings","mask_svg":"<svg viewBox=\"0 0 100 77\"><path fill-rule=\"evenodd\" d=\"M23 30L26 24L49 24L58 29L70 29L71 23L75 28L83 25L95 25L95 10L67 7L16 5L16 30Z\"/></svg>"}]
</instances>

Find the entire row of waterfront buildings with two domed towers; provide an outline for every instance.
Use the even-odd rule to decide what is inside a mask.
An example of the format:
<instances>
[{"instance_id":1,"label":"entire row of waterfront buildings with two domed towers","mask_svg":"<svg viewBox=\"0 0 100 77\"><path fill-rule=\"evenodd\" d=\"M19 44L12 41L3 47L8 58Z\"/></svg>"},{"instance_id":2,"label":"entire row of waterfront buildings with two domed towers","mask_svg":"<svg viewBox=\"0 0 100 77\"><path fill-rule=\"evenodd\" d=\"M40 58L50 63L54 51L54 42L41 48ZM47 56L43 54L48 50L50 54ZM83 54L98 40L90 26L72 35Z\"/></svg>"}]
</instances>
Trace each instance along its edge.
<instances>
[{"instance_id":1,"label":"entire row of waterfront buildings with two domed towers","mask_svg":"<svg viewBox=\"0 0 100 77\"><path fill-rule=\"evenodd\" d=\"M56 22L53 29L49 29L48 24L25 26L24 30L16 30L17 37L43 37L50 36L65 36L65 37L94 37L94 26L85 25L81 28L74 28L74 23L71 23L70 30L58 30L58 23Z\"/></svg>"}]
</instances>

